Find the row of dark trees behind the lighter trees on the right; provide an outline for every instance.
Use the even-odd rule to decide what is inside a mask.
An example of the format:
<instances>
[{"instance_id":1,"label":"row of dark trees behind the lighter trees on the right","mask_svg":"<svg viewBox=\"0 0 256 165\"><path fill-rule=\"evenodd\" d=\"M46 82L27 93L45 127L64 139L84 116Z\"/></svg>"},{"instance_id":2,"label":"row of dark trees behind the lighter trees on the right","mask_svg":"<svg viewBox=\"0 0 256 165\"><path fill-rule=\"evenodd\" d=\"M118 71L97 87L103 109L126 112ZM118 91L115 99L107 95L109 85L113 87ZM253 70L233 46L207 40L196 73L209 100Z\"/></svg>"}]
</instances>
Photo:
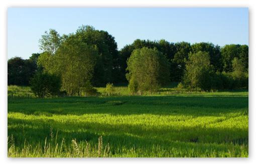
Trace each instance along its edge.
<instances>
[{"instance_id":1,"label":"row of dark trees behind the lighter trees on the right","mask_svg":"<svg viewBox=\"0 0 256 165\"><path fill-rule=\"evenodd\" d=\"M129 58L135 49L148 47L157 48L166 57L170 63L170 80L182 81L186 60L189 53L197 53L199 51L208 52L210 64L214 71L232 71L232 60L236 57L243 63L245 70L248 70L248 46L239 44L227 44L223 47L208 42L200 42L190 44L189 42L172 43L164 39L159 41L137 39L132 44L125 45L119 51L120 64L120 80L125 80L125 73Z\"/></svg>"}]
</instances>

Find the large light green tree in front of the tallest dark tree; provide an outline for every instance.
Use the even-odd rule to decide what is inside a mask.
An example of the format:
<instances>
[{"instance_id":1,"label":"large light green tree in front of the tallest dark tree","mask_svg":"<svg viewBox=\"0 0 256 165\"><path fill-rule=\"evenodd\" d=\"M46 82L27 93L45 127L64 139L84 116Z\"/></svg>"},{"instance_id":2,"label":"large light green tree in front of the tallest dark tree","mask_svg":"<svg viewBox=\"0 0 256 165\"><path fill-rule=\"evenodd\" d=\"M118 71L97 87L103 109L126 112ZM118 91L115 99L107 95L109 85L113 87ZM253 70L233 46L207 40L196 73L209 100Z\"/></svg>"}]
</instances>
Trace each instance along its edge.
<instances>
[{"instance_id":1,"label":"large light green tree in front of the tallest dark tree","mask_svg":"<svg viewBox=\"0 0 256 165\"><path fill-rule=\"evenodd\" d=\"M69 94L80 95L86 82L91 81L98 57L97 46L84 43L75 34L61 44L55 54L55 71Z\"/></svg>"}]
</instances>

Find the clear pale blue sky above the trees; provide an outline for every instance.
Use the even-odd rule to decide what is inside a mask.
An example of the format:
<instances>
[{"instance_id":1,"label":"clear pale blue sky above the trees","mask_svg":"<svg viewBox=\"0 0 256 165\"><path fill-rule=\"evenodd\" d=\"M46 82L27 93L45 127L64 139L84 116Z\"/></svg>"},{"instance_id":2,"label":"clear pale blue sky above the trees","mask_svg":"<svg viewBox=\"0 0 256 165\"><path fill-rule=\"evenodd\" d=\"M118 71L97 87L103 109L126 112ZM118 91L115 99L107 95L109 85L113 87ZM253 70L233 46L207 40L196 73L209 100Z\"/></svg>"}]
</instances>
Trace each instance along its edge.
<instances>
[{"instance_id":1,"label":"clear pale blue sky above the trees","mask_svg":"<svg viewBox=\"0 0 256 165\"><path fill-rule=\"evenodd\" d=\"M92 25L115 37L118 49L135 39L248 44L248 8L9 8L8 59L40 52L45 30L61 35Z\"/></svg>"}]
</instances>

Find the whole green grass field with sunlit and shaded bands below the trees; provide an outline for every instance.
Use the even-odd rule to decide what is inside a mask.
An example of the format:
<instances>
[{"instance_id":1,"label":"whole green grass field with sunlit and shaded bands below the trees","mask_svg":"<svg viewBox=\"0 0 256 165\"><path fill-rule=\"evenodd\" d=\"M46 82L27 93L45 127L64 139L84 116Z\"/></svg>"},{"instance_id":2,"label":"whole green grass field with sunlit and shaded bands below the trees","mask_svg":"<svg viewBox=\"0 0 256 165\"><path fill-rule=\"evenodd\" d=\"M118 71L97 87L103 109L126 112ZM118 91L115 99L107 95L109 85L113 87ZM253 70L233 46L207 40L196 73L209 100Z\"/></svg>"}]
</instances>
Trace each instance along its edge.
<instances>
[{"instance_id":1,"label":"whole green grass field with sunlit and shaded bands below the trees","mask_svg":"<svg viewBox=\"0 0 256 165\"><path fill-rule=\"evenodd\" d=\"M126 94L8 98L8 156L248 156L247 91Z\"/></svg>"}]
</instances>

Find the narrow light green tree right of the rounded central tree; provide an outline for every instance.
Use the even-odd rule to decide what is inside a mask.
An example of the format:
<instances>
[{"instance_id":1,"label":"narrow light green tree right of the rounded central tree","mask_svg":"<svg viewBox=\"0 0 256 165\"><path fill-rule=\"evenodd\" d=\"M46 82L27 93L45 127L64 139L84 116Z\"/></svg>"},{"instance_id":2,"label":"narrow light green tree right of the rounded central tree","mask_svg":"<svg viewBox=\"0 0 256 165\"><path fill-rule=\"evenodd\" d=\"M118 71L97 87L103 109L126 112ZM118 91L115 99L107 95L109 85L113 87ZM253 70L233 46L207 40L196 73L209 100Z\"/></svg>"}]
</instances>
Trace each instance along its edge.
<instances>
[{"instance_id":1,"label":"narrow light green tree right of the rounded central tree","mask_svg":"<svg viewBox=\"0 0 256 165\"><path fill-rule=\"evenodd\" d=\"M189 53L186 61L186 72L184 82L192 89L201 87L208 89L210 83L210 56L207 52L198 51L196 53Z\"/></svg>"}]
</instances>

